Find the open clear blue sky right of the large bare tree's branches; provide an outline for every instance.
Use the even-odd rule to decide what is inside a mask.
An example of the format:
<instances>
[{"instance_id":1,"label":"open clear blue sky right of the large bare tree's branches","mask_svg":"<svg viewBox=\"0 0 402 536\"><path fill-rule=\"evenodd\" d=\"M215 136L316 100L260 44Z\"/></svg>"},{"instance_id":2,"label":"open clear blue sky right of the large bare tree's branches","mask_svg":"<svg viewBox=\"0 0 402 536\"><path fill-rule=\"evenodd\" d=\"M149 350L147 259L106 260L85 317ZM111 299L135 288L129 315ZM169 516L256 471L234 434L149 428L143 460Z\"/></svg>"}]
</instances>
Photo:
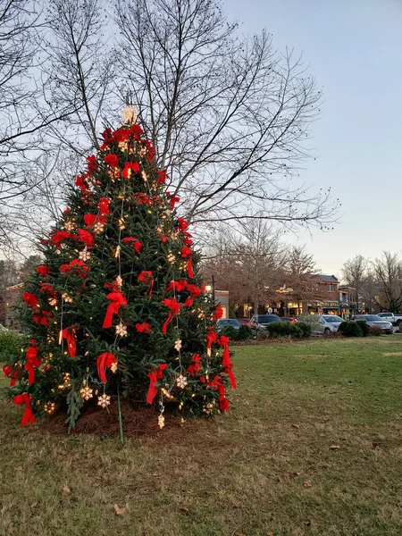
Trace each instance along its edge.
<instances>
[{"instance_id":1,"label":"open clear blue sky right of the large bare tree's branches","mask_svg":"<svg viewBox=\"0 0 402 536\"><path fill-rule=\"evenodd\" d=\"M301 179L332 187L335 230L302 232L322 272L356 254L402 249L402 0L223 0L245 34L266 28L279 50L303 52L322 86L318 158ZM290 239L291 240L291 239Z\"/></svg>"}]
</instances>

